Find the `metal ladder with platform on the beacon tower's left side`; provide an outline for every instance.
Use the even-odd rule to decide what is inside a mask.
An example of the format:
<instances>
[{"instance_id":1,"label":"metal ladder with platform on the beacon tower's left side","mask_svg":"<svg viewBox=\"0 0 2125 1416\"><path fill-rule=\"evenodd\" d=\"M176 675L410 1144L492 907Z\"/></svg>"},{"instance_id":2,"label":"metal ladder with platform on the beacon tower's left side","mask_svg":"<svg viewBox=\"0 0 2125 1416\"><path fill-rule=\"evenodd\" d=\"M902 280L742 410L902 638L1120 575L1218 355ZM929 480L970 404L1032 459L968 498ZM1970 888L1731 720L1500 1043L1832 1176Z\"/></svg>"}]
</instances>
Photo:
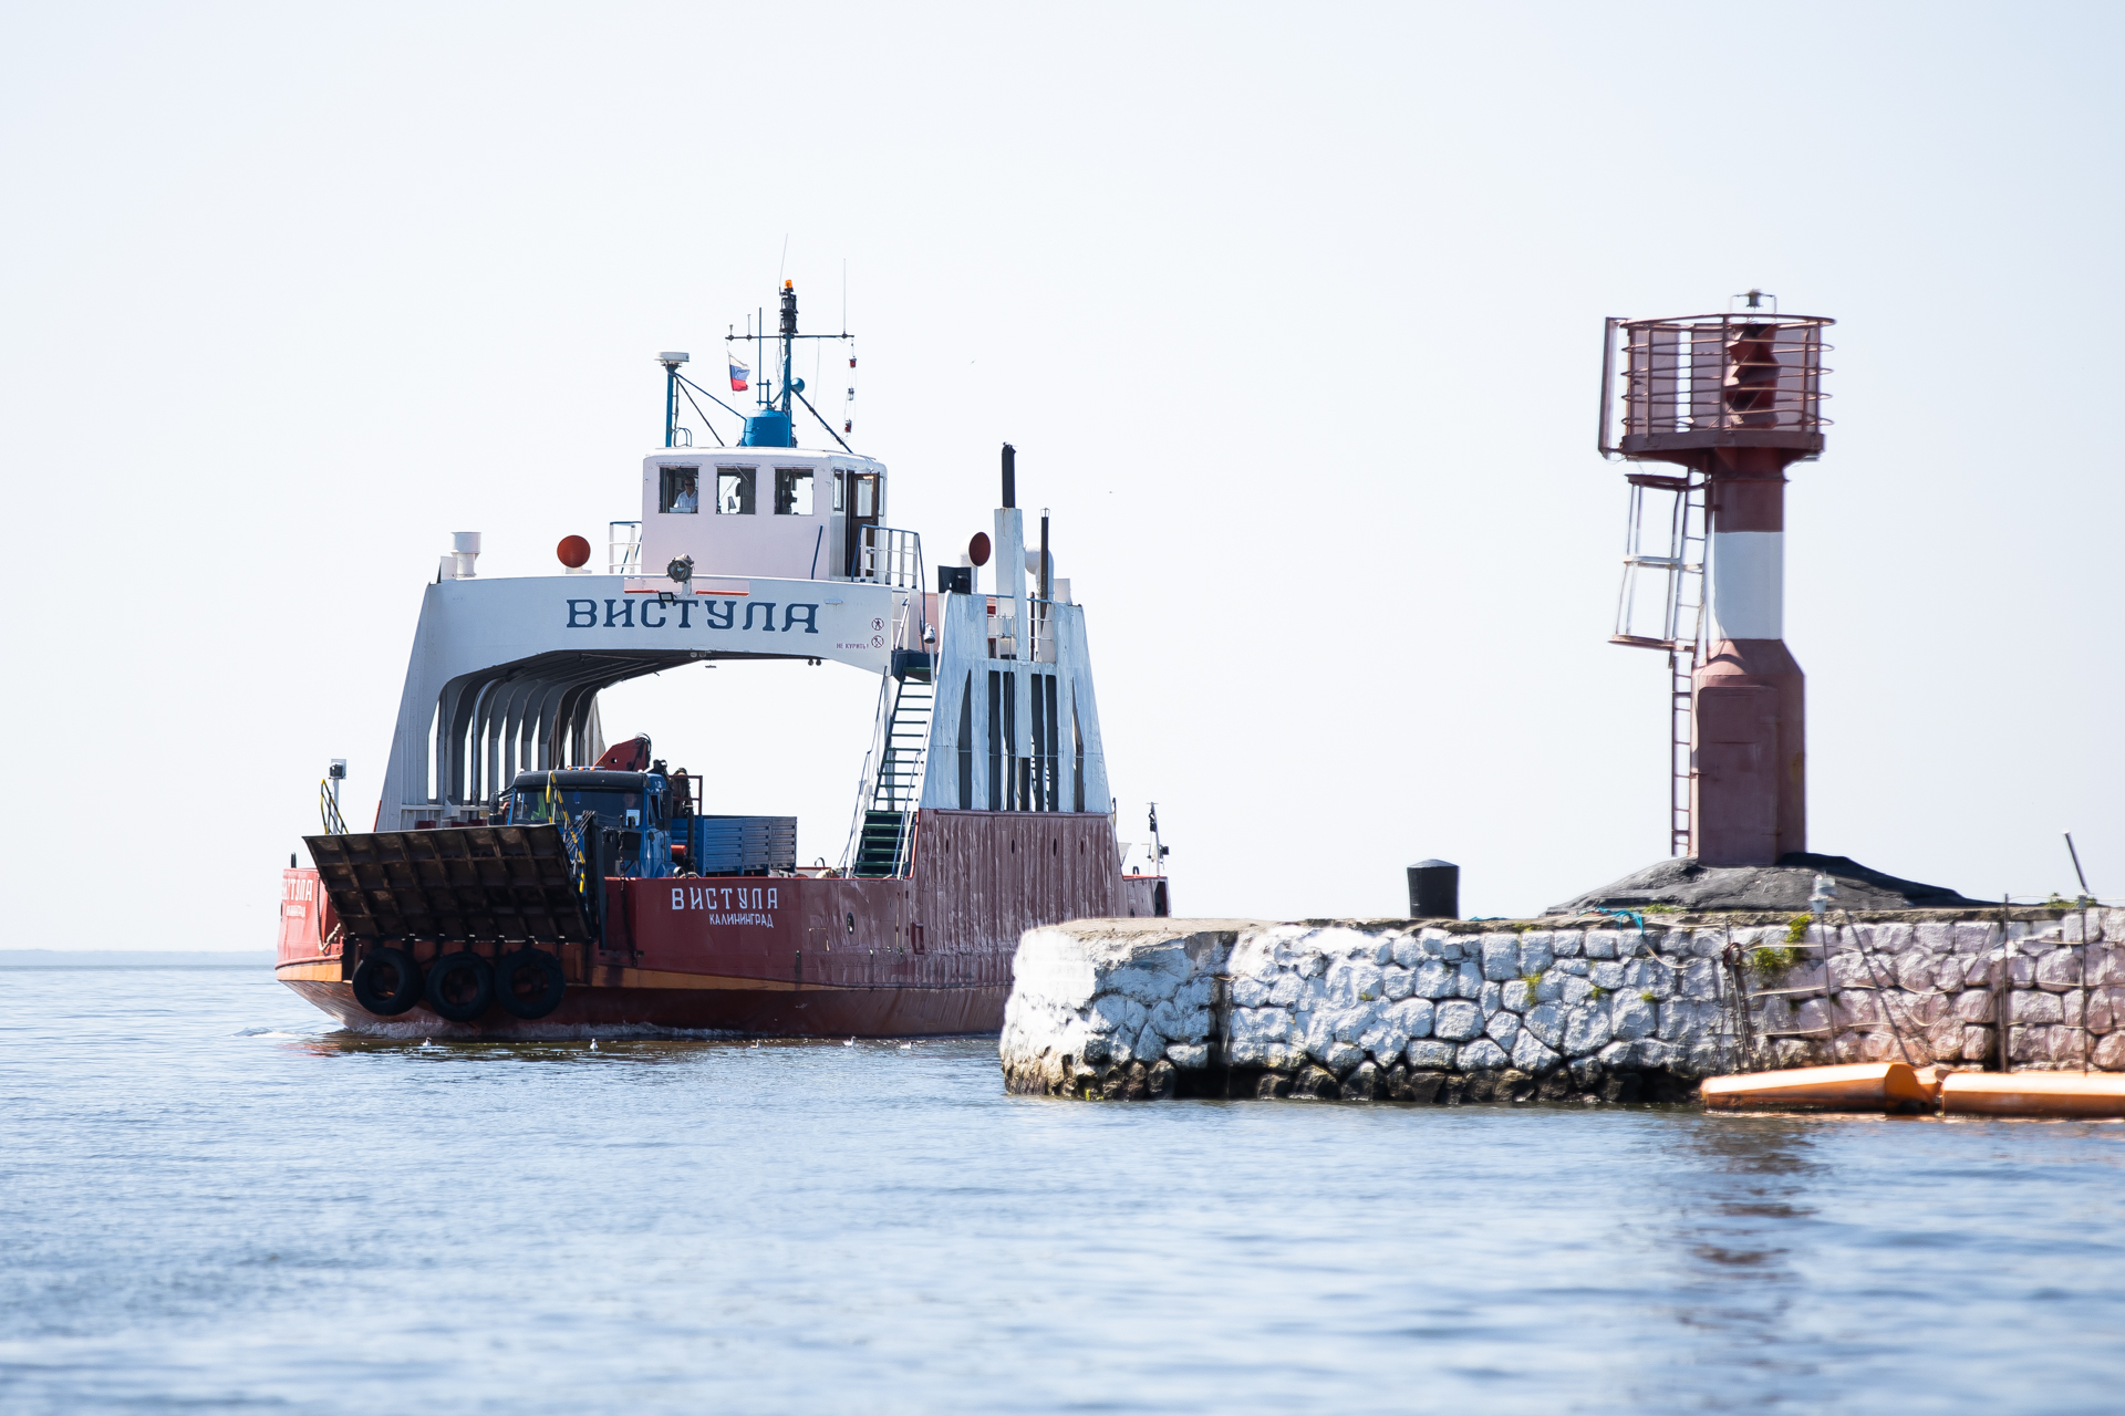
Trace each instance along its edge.
<instances>
[{"instance_id":1,"label":"metal ladder with platform on the beacon tower's left side","mask_svg":"<svg viewBox=\"0 0 2125 1416\"><path fill-rule=\"evenodd\" d=\"M1617 594L1615 633L1609 643L1668 652L1668 847L1674 856L1689 853L1689 781L1696 766L1689 756L1692 679L1704 645L1704 548L1708 524L1704 516L1704 482L1698 478L1666 478L1634 471L1630 482L1630 531L1624 543L1624 588ZM1645 543L1645 493L1668 493L1666 554L1651 554ZM1658 518L1655 518L1658 526ZM1658 575L1660 599L1645 594L1643 575ZM1658 616L1658 620L1653 620Z\"/></svg>"}]
</instances>

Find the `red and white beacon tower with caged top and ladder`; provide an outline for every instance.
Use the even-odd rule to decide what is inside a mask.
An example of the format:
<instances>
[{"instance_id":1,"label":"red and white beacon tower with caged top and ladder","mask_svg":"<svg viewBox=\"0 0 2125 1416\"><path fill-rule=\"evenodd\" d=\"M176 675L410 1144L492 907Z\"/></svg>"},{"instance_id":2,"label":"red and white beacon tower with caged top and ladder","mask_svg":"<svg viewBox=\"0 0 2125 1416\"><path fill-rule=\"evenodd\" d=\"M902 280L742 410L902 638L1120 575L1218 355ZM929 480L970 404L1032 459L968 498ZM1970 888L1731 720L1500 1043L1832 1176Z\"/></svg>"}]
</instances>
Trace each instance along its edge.
<instances>
[{"instance_id":1,"label":"red and white beacon tower with caged top and ladder","mask_svg":"<svg viewBox=\"0 0 2125 1416\"><path fill-rule=\"evenodd\" d=\"M1600 450L1681 469L1628 473L1613 635L1670 656L1674 853L1768 866L1808 849L1806 684L1785 647L1785 469L1823 450L1832 321L1779 314L1762 291L1734 304L1726 314L1609 321ZM1617 382L1624 418L1611 444ZM1666 554L1647 543L1658 524L1649 493L1670 497Z\"/></svg>"}]
</instances>

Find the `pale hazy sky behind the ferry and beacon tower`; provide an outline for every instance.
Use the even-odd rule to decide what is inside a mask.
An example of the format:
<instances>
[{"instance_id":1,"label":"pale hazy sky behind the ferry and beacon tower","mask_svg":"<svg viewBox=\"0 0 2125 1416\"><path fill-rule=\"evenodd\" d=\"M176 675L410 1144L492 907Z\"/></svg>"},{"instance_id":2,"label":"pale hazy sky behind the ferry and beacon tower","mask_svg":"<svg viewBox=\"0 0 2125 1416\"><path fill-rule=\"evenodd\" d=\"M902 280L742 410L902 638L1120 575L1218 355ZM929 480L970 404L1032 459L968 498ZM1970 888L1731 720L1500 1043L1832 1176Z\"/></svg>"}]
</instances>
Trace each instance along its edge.
<instances>
[{"instance_id":1,"label":"pale hazy sky behind the ferry and beacon tower","mask_svg":"<svg viewBox=\"0 0 2125 1416\"><path fill-rule=\"evenodd\" d=\"M2121 15L13 4L0 945L266 947L327 758L374 811L448 533L550 573L638 514L650 357L778 274L839 325L844 270L890 520L950 560L1020 448L1182 913L1666 856L1598 335L1747 287L1838 321L1810 847L2042 896L2072 828L2125 896ZM725 667L604 720L837 858L873 696Z\"/></svg>"}]
</instances>

